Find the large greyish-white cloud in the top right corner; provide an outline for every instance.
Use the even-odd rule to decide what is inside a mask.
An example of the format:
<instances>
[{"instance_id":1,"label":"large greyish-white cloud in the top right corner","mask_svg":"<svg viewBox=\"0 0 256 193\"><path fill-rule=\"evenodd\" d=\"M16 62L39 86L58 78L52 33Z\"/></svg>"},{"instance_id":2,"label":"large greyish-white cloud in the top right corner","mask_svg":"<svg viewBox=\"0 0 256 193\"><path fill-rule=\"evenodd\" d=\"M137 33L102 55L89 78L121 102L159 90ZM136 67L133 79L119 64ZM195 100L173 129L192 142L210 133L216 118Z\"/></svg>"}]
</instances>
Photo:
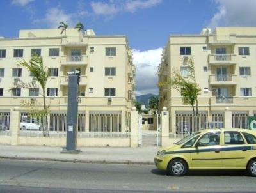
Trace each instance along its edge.
<instances>
[{"instance_id":1,"label":"large greyish-white cloud in the top right corner","mask_svg":"<svg viewBox=\"0 0 256 193\"><path fill-rule=\"evenodd\" d=\"M218 12L214 14L208 27L216 26L256 26L255 0L215 0Z\"/></svg>"}]
</instances>

